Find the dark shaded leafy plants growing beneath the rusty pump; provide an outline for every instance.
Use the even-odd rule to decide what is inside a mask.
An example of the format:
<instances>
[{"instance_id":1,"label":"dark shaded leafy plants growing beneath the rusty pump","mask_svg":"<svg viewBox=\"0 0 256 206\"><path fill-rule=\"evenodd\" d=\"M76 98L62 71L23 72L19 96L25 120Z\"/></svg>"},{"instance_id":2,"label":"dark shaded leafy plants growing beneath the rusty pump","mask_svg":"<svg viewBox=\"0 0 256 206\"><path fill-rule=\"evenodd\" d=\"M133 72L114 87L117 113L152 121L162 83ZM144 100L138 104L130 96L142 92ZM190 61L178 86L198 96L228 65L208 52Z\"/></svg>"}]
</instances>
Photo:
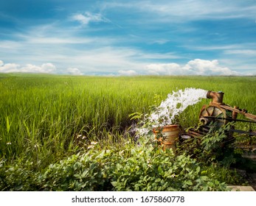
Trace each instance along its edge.
<instances>
[{"instance_id":1,"label":"dark shaded leafy plants growing beneath the rusty pump","mask_svg":"<svg viewBox=\"0 0 256 206\"><path fill-rule=\"evenodd\" d=\"M229 185L243 185L246 184L246 180L243 180L235 169L230 168L239 161L233 144L229 142L230 140L226 142L230 127L233 127L232 123L218 129L212 124L207 135L184 141L179 144L177 151L178 154L186 152L200 162L203 168L201 175L215 177L218 181Z\"/></svg>"}]
</instances>

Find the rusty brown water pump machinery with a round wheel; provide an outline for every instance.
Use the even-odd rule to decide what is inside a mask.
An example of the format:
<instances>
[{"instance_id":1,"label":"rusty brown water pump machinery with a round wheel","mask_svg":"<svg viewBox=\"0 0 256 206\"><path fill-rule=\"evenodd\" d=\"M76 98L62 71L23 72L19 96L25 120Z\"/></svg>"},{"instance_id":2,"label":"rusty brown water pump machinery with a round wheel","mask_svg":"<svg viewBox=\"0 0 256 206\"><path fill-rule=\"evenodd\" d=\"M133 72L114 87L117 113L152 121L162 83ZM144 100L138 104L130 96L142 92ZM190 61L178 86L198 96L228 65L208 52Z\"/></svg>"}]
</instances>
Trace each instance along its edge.
<instances>
[{"instance_id":1,"label":"rusty brown water pump machinery with a round wheel","mask_svg":"<svg viewBox=\"0 0 256 206\"><path fill-rule=\"evenodd\" d=\"M230 107L223 102L224 93L214 92L209 90L207 92L207 98L212 99L210 104L205 104L200 111L199 121L201 122L201 127L196 127L188 129L186 135L181 135L181 138L191 138L191 137L201 137L209 132L210 125L214 124L214 127L222 127L229 122L243 121L249 123L256 123L256 116L247 113L246 110L241 110L239 107ZM241 114L248 118L249 120L238 119L238 114ZM228 132L228 136L232 136L233 132L238 132L241 134L247 134L250 136L256 136L256 131L242 131L231 127Z\"/></svg>"}]
</instances>

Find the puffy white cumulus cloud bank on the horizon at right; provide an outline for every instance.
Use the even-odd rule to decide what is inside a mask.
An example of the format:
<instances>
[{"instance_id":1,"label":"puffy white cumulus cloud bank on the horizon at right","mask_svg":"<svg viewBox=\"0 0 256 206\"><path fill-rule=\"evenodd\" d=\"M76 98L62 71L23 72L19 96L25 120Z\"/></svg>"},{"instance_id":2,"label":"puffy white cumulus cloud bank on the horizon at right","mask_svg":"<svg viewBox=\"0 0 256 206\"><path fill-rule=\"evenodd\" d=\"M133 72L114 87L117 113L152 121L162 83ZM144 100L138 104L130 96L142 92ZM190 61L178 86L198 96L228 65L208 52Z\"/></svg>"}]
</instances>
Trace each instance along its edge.
<instances>
[{"instance_id":1,"label":"puffy white cumulus cloud bank on the horizon at right","mask_svg":"<svg viewBox=\"0 0 256 206\"><path fill-rule=\"evenodd\" d=\"M159 63L146 66L148 74L153 75L240 75L236 71L221 66L218 60L190 60L186 65Z\"/></svg>"}]
</instances>

